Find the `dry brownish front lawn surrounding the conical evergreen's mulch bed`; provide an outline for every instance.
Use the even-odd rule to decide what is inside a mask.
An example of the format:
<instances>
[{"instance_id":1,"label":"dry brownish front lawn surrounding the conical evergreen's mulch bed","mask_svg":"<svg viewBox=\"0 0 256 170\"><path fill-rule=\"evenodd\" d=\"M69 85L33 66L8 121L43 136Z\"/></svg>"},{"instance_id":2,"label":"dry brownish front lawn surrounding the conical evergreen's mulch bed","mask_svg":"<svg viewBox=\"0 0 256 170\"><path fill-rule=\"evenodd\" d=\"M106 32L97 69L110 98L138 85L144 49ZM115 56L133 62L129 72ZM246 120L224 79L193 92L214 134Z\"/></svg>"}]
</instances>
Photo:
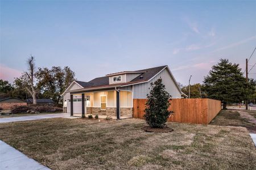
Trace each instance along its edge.
<instances>
[{"instance_id":1,"label":"dry brownish front lawn surrounding the conical evergreen's mulch bed","mask_svg":"<svg viewBox=\"0 0 256 170\"><path fill-rule=\"evenodd\" d=\"M144 120L82 119L0 124L0 139L51 169L253 169L245 128L168 122L147 133Z\"/></svg>"}]
</instances>

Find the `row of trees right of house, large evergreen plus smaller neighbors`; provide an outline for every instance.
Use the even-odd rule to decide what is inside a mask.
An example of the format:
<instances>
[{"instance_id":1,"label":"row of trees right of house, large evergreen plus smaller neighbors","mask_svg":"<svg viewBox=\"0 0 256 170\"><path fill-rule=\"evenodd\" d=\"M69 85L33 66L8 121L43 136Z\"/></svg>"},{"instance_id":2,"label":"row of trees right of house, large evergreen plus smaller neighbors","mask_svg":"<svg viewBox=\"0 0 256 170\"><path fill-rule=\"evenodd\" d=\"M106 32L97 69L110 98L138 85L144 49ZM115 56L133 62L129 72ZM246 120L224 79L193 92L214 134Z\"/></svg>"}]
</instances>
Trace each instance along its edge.
<instances>
[{"instance_id":1,"label":"row of trees right of house, large evergreen plus smaller neighbors","mask_svg":"<svg viewBox=\"0 0 256 170\"><path fill-rule=\"evenodd\" d=\"M231 63L228 59L220 59L217 65L204 77L203 84L197 83L190 87L191 98L209 98L221 100L224 108L228 103L255 101L256 81L246 80L239 64ZM188 95L188 86L180 84L181 91Z\"/></svg>"}]
</instances>

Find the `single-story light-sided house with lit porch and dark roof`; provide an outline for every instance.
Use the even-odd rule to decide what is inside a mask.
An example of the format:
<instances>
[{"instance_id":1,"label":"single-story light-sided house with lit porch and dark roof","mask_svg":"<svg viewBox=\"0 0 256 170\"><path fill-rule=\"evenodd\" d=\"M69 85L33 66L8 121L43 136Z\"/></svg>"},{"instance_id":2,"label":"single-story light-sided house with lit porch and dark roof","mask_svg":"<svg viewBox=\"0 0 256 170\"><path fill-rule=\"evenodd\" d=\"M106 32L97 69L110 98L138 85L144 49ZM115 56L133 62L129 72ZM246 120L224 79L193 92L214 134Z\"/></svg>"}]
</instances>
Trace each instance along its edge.
<instances>
[{"instance_id":1,"label":"single-story light-sided house with lit porch and dark roof","mask_svg":"<svg viewBox=\"0 0 256 170\"><path fill-rule=\"evenodd\" d=\"M98 77L89 82L75 80L62 94L64 113L71 116L103 114L131 117L133 100L146 99L150 83L162 78L172 98L181 98L177 82L168 66L137 71L122 71Z\"/></svg>"}]
</instances>

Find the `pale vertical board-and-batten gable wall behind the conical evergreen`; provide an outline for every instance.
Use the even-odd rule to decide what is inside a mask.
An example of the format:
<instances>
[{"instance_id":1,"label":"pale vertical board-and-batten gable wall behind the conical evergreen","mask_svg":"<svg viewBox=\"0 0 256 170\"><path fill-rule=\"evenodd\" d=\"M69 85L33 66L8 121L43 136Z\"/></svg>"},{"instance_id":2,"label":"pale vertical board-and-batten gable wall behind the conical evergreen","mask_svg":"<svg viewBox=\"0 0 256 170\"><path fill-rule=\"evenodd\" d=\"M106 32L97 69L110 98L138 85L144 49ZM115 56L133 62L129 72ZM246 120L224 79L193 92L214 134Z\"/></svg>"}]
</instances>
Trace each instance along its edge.
<instances>
[{"instance_id":1,"label":"pale vertical board-and-batten gable wall behind the conical evergreen","mask_svg":"<svg viewBox=\"0 0 256 170\"><path fill-rule=\"evenodd\" d=\"M172 96L172 99L181 98L179 88L176 86L175 80L172 78L167 69L161 71L149 82L133 85L133 98L146 99L147 94L149 94L150 92L150 83L155 82L155 80L159 79L160 77L163 79L163 83L166 86L166 90Z\"/></svg>"}]
</instances>

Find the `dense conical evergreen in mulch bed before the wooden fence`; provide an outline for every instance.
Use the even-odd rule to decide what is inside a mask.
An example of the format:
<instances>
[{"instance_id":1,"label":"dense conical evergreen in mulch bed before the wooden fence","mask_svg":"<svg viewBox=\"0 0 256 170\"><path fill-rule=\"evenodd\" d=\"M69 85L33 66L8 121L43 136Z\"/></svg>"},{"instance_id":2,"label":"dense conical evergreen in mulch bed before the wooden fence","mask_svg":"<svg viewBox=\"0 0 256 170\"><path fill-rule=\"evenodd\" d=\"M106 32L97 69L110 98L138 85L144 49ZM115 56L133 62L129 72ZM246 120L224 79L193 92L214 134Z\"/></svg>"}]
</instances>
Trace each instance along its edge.
<instances>
[{"instance_id":1,"label":"dense conical evergreen in mulch bed before the wooden fence","mask_svg":"<svg viewBox=\"0 0 256 170\"><path fill-rule=\"evenodd\" d=\"M173 113L168 111L170 99L171 96L166 91L162 78L151 83L151 90L150 94L147 95L144 114L146 122L151 128L164 128L166 125L168 117Z\"/></svg>"}]
</instances>

